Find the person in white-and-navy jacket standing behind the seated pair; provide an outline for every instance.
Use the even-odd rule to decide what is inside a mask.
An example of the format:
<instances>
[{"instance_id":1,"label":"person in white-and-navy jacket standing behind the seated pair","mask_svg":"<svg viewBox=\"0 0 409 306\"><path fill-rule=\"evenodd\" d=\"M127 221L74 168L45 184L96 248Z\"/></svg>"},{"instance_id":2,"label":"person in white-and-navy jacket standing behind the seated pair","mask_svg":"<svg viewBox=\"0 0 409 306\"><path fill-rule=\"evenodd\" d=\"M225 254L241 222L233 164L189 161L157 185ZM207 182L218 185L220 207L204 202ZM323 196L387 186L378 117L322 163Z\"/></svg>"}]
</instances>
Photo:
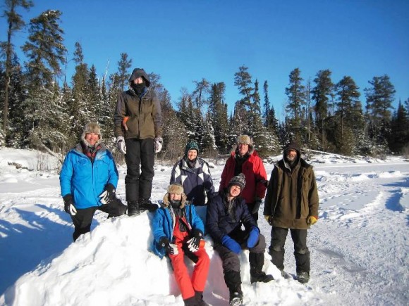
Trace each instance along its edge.
<instances>
[{"instance_id":1,"label":"person in white-and-navy jacket standing behind the seated pair","mask_svg":"<svg viewBox=\"0 0 409 306\"><path fill-rule=\"evenodd\" d=\"M214 193L214 186L209 164L197 155L197 142L188 141L185 155L173 166L170 184L181 184L188 200L194 199L195 206L202 206Z\"/></svg>"}]
</instances>

